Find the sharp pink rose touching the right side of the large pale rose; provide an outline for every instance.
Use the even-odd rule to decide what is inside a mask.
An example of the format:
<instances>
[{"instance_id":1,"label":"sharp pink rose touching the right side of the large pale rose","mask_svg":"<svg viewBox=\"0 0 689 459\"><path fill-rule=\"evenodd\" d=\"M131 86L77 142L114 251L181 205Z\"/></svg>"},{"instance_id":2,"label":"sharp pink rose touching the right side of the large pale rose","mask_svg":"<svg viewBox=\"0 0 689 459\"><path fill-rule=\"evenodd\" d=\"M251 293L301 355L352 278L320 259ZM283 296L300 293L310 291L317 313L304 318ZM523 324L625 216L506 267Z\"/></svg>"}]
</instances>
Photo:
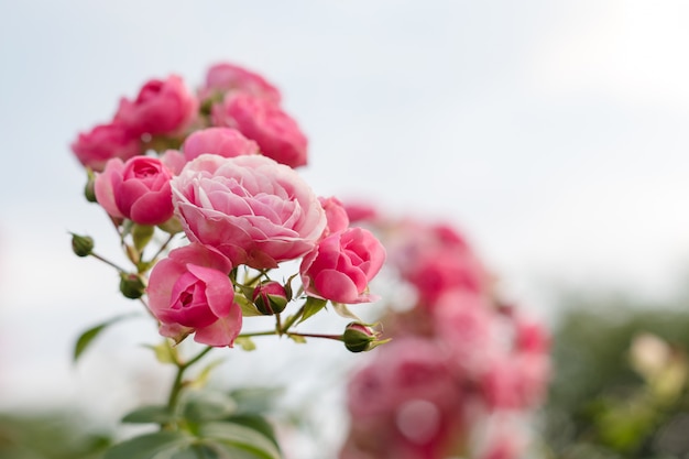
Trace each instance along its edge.
<instances>
[{"instance_id":1,"label":"sharp pink rose touching the right side of the large pale rose","mask_svg":"<svg viewBox=\"0 0 689 459\"><path fill-rule=\"evenodd\" d=\"M385 261L385 249L370 231L349 228L321 240L304 258L299 273L305 292L318 298L354 304L376 299L369 282Z\"/></svg>"}]
</instances>

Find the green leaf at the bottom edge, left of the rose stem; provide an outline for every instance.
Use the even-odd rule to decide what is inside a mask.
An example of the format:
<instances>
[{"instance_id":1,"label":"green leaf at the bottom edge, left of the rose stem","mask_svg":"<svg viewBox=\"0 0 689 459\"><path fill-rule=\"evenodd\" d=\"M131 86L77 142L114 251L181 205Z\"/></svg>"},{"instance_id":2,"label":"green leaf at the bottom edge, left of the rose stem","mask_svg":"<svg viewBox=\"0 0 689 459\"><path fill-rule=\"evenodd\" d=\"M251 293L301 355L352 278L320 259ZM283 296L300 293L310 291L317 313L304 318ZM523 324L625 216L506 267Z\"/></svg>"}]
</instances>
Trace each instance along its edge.
<instances>
[{"instance_id":1,"label":"green leaf at the bottom edge, left of the rose stem","mask_svg":"<svg viewBox=\"0 0 689 459\"><path fill-rule=\"evenodd\" d=\"M103 459L172 459L194 440L182 431L156 431L114 445L106 451Z\"/></svg>"}]
</instances>

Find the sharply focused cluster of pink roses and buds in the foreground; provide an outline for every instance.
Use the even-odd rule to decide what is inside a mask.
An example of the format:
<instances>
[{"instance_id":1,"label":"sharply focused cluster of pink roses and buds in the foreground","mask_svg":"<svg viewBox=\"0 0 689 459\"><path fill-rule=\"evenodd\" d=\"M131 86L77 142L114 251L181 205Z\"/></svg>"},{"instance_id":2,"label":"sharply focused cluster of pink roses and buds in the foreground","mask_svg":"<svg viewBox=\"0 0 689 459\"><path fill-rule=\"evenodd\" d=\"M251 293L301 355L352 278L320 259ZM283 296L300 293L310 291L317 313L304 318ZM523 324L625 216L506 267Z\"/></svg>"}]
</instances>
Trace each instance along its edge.
<instances>
[{"instance_id":1,"label":"sharply focused cluster of pink roses and buds in the foreground","mask_svg":"<svg viewBox=\"0 0 689 459\"><path fill-rule=\"evenodd\" d=\"M214 65L196 91L176 75L152 79L72 150L134 266L118 267L122 293L144 300L165 337L231 347L243 317L274 315L276 335L303 338L291 327L328 302L376 298L369 283L385 250L297 173L306 136L253 72ZM80 255L92 254L86 241L76 239ZM294 261L298 272L277 277ZM302 306L283 321L291 302ZM367 328L347 329L357 327Z\"/></svg>"}]
</instances>

